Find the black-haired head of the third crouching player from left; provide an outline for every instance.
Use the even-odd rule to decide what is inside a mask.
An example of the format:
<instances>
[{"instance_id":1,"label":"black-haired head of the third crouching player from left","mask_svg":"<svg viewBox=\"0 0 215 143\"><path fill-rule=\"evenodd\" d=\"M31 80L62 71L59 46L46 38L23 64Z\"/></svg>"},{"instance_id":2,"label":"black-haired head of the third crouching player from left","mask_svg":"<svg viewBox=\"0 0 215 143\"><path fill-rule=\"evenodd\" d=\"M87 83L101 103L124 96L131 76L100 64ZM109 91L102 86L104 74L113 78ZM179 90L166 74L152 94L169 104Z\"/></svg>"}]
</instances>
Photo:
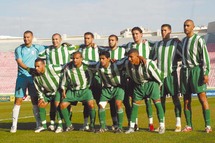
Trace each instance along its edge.
<instances>
[{"instance_id":1,"label":"black-haired head of the third crouching player from left","mask_svg":"<svg viewBox=\"0 0 215 143\"><path fill-rule=\"evenodd\" d=\"M110 53L108 51L101 51L99 53L99 61L102 67L107 68L110 63Z\"/></svg>"}]
</instances>

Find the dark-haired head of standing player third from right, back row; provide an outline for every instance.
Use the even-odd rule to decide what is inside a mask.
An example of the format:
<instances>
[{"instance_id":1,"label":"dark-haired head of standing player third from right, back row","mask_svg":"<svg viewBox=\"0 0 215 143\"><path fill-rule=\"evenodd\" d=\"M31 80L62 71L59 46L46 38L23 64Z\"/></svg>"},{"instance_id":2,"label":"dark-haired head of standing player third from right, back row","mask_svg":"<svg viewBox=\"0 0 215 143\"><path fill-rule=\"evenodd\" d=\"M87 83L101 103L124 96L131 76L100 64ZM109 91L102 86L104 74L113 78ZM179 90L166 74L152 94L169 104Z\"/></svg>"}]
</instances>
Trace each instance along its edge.
<instances>
[{"instance_id":1,"label":"dark-haired head of standing player third from right, back row","mask_svg":"<svg viewBox=\"0 0 215 143\"><path fill-rule=\"evenodd\" d=\"M135 43L141 43L143 37L143 31L140 27L134 27L131 30L132 37Z\"/></svg>"}]
</instances>

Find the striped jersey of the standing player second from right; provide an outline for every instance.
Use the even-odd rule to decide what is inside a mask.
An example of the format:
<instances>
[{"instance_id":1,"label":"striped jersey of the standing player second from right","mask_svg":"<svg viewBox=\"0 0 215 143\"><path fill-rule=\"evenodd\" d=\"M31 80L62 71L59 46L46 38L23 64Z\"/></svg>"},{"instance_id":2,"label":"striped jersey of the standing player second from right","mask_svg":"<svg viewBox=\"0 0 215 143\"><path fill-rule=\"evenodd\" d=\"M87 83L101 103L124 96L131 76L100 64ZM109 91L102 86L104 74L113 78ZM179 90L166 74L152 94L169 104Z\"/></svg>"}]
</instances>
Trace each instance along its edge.
<instances>
[{"instance_id":1,"label":"striped jersey of the standing player second from right","mask_svg":"<svg viewBox=\"0 0 215 143\"><path fill-rule=\"evenodd\" d=\"M157 66L164 73L165 77L176 71L177 62L182 56L182 44L180 41L175 39L159 41L155 43L154 50L153 60L157 60Z\"/></svg>"}]
</instances>

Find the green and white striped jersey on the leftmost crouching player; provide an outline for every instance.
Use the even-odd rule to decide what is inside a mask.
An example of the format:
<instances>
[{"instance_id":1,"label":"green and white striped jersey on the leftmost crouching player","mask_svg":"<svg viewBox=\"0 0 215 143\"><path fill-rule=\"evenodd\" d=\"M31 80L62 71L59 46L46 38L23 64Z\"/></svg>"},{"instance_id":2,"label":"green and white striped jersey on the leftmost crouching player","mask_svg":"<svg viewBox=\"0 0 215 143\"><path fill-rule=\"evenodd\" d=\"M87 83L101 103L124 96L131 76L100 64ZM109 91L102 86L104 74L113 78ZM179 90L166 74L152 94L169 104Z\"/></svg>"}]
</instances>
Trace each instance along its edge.
<instances>
[{"instance_id":1,"label":"green and white striped jersey on the leftmost crouching player","mask_svg":"<svg viewBox=\"0 0 215 143\"><path fill-rule=\"evenodd\" d=\"M61 66L46 65L45 72L34 77L34 85L39 98L43 98L43 94L55 95L59 89L61 70Z\"/></svg>"}]
</instances>

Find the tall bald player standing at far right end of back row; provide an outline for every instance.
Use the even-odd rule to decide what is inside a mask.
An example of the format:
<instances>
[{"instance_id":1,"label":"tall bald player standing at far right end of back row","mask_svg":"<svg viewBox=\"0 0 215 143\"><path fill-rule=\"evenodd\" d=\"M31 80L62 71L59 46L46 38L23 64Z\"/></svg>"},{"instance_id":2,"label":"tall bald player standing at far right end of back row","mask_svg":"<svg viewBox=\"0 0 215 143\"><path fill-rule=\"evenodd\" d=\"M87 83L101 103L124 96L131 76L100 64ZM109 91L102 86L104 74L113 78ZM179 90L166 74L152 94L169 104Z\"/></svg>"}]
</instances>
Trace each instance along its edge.
<instances>
[{"instance_id":1,"label":"tall bald player standing at far right end of back row","mask_svg":"<svg viewBox=\"0 0 215 143\"><path fill-rule=\"evenodd\" d=\"M190 19L184 22L186 37L182 40L181 93L184 95L184 114L186 127L183 132L192 131L191 96L197 93L202 105L205 120L205 131L212 131L210 125L210 109L206 96L206 84L210 71L210 59L204 39L194 34L194 22Z\"/></svg>"}]
</instances>

